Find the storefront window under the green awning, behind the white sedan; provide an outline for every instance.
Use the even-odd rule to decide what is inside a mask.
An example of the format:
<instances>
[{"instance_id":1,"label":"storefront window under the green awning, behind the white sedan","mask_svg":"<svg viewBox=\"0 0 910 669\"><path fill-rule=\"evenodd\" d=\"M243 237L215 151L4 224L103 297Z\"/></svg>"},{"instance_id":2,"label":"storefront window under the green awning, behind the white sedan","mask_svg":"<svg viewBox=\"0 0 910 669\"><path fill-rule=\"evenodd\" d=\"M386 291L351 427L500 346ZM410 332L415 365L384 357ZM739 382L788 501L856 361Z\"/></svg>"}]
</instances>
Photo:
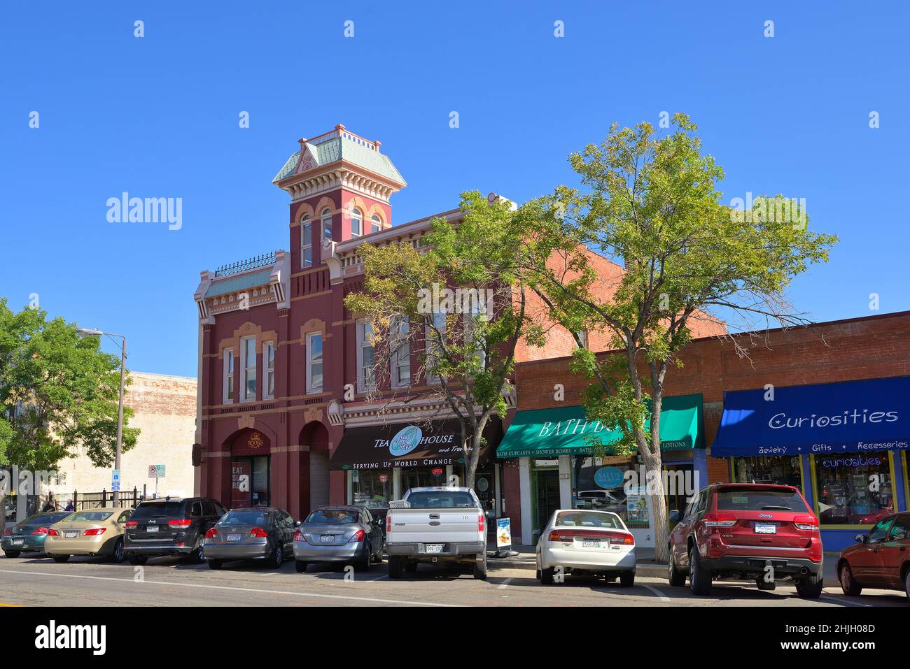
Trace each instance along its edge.
<instances>
[{"instance_id":1,"label":"storefront window under the green awning, behind the white sedan","mask_svg":"<svg viewBox=\"0 0 910 669\"><path fill-rule=\"evenodd\" d=\"M624 486L634 458L572 457L572 508L612 511L630 529L647 529L651 519L644 487Z\"/></svg>"}]
</instances>

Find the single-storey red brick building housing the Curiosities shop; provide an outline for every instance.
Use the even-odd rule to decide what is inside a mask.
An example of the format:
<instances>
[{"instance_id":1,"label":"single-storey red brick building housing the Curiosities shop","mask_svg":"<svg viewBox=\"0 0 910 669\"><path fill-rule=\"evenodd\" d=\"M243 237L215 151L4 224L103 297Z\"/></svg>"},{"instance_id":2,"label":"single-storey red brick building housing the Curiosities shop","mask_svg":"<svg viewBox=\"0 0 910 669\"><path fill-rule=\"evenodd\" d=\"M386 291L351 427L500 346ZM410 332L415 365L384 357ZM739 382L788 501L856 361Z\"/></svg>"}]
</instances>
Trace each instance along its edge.
<instances>
[{"instance_id":1,"label":"single-storey red brick building housing the Curiosities shop","mask_svg":"<svg viewBox=\"0 0 910 669\"><path fill-rule=\"evenodd\" d=\"M834 459L824 452L799 452L787 455L743 455L737 457L713 457L712 444L716 444L719 426L724 410L724 394L731 403L733 394L754 391L766 394L769 385L778 394L785 390L798 392L813 390L824 384L827 390L844 388L860 389L856 404L862 410L864 386L855 385L863 380L888 380L903 383L910 375L910 312L874 315L830 323L820 323L805 328L771 330L757 333L750 341L741 336L748 350L748 357L736 353L730 342L714 337L696 339L682 352L683 366L671 367L666 376L664 397L700 395L703 406L703 452L698 449L685 451L664 451L664 461L671 468L686 468L700 472L700 484L712 482L776 480L801 485L811 504L815 505L823 526L826 549L839 548L852 542L857 528L867 528L871 520L880 514L892 513L908 508L910 494L907 490L906 443L898 441L879 451L847 458L848 463ZM587 385L584 379L569 373L569 358L525 362L517 365L517 397L520 412L559 409L581 404L581 390ZM563 384L564 399L554 400L554 384ZM901 385L900 387L903 387ZM886 400L890 409L900 414L903 424L905 414L910 414L910 396L889 396ZM780 397L777 403L781 403ZM727 407L730 408L730 407ZM871 404L868 408L872 408ZM784 412L785 405L774 411ZM841 411L840 408L837 411ZM836 412L834 412L836 413ZM539 421L545 414L538 417ZM806 424L808 425L808 423ZM905 429L905 428L899 428ZM903 434L903 433L896 433ZM905 434L904 437L910 437ZM506 440L508 441L508 439ZM794 441L794 444L798 442ZM678 456L680 455L680 456ZM542 471L568 473L570 455L562 456L566 463L561 468L547 463ZM880 461L877 466L855 466L856 462ZM634 460L634 456L632 457ZM512 526L520 525L522 533L532 533L540 523L538 503L541 499L540 478L535 481L533 458L520 458L520 466L528 468L521 482L530 489L524 494L526 504L521 504L521 518L512 514ZM602 463L620 466L619 462ZM625 466L625 463L622 463ZM853 466L847 470L847 467ZM824 471L823 471L824 469ZM854 491L854 497L846 497L857 477L860 483L869 484L871 479L881 487L875 494L869 491ZM577 481L565 480L562 484L560 504L572 504L572 495L579 490L573 487ZM521 487L521 486L520 486ZM581 488L586 487L581 484ZM596 486L591 486L596 487ZM863 486L859 486L860 488ZM868 485L865 485L868 488ZM577 500L575 500L577 503ZM669 504L680 502L671 499ZM680 507L681 508L681 507ZM844 509L850 509L849 513ZM859 509L857 511L857 509ZM542 514L541 514L542 515ZM529 517L533 516L533 517ZM832 522L826 523L826 519ZM835 522L836 521L836 522ZM824 531L826 530L826 531ZM647 533L642 531L642 539Z\"/></svg>"}]
</instances>

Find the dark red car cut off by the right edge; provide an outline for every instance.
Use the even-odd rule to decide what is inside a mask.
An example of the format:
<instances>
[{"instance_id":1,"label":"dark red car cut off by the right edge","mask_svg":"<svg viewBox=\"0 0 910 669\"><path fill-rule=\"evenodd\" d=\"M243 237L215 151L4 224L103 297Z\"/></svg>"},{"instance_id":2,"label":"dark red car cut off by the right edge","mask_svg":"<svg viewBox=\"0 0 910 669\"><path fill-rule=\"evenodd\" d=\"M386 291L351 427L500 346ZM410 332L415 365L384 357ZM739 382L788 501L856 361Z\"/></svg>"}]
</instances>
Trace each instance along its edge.
<instances>
[{"instance_id":1,"label":"dark red car cut off by the right edge","mask_svg":"<svg viewBox=\"0 0 910 669\"><path fill-rule=\"evenodd\" d=\"M910 512L883 518L868 533L856 534L856 541L837 558L844 594L881 588L903 590L910 599Z\"/></svg>"}]
</instances>

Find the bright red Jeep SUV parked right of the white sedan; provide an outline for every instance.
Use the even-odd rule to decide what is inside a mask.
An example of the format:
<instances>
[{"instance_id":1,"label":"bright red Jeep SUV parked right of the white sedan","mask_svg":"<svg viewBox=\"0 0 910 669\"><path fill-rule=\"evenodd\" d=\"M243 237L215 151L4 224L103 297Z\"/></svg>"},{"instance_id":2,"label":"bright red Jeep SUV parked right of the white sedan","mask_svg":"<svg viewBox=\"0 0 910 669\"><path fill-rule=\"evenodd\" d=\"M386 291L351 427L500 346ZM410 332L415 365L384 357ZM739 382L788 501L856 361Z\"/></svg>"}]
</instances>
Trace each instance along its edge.
<instances>
[{"instance_id":1,"label":"bright red Jeep SUV parked right of the white sedan","mask_svg":"<svg viewBox=\"0 0 910 669\"><path fill-rule=\"evenodd\" d=\"M670 534L670 584L709 594L711 582L791 579L801 597L822 594L818 518L792 485L713 484L695 494Z\"/></svg>"}]
</instances>

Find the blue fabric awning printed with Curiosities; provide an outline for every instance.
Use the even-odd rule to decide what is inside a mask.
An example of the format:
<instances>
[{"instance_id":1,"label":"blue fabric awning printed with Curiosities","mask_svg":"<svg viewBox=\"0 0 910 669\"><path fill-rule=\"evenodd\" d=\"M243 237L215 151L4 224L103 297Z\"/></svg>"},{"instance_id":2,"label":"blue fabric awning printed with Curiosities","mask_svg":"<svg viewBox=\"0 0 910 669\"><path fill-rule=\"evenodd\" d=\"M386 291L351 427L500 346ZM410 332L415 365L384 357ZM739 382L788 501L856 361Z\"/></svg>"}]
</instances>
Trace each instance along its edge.
<instances>
[{"instance_id":1,"label":"blue fabric awning printed with Curiosities","mask_svg":"<svg viewBox=\"0 0 910 669\"><path fill-rule=\"evenodd\" d=\"M905 449L910 376L723 394L711 454L798 455Z\"/></svg>"}]
</instances>

